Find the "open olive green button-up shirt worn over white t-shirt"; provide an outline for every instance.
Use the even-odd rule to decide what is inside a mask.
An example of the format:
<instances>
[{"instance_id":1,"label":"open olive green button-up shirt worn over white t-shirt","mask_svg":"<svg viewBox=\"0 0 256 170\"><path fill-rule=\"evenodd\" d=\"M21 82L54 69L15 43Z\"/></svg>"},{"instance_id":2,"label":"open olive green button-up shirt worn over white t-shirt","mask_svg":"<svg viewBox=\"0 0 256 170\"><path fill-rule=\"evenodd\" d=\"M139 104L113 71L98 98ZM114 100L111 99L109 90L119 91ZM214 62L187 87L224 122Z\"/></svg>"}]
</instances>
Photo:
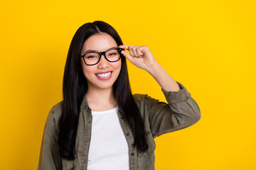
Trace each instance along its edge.
<instances>
[{"instance_id":1,"label":"open olive green button-up shirt worn over white t-shirt","mask_svg":"<svg viewBox=\"0 0 256 170\"><path fill-rule=\"evenodd\" d=\"M155 137L168 132L187 128L200 120L201 111L196 101L187 89L178 81L180 90L163 91L167 103L161 102L148 95L134 94L146 129L146 140L149 145L147 152L140 153L132 146L134 137L124 115L118 111L119 123L126 137L129 148L129 169L154 169ZM46 125L43 130L43 140L38 169L87 169L88 152L92 128L91 109L87 103L86 95L80 106L78 132L75 141L75 160L60 158L58 147L58 120L61 115L61 102L57 103L48 113ZM107 147L107 146L106 146Z\"/></svg>"}]
</instances>

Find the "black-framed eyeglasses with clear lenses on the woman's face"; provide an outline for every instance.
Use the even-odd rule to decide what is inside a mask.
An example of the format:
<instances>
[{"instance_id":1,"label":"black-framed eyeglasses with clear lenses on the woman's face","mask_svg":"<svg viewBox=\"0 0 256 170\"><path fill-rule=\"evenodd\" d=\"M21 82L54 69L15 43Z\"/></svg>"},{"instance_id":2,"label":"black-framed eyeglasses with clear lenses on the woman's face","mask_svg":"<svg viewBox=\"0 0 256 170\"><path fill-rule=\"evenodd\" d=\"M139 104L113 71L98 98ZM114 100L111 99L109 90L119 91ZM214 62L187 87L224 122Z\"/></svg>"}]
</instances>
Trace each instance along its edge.
<instances>
[{"instance_id":1,"label":"black-framed eyeglasses with clear lenses on the woman's face","mask_svg":"<svg viewBox=\"0 0 256 170\"><path fill-rule=\"evenodd\" d=\"M85 52L80 54L85 64L87 65L95 65L100 62L100 58L104 55L105 59L108 62L117 62L121 57L121 51L124 50L119 47L110 48L104 52Z\"/></svg>"}]
</instances>

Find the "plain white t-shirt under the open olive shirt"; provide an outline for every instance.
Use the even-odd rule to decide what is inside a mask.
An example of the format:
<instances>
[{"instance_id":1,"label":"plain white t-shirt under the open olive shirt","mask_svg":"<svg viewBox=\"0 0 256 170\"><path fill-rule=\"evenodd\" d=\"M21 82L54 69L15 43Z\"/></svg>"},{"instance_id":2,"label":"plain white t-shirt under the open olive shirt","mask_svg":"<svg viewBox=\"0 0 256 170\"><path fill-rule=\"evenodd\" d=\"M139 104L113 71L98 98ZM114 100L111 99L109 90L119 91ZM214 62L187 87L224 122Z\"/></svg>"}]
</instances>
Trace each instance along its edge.
<instances>
[{"instance_id":1,"label":"plain white t-shirt under the open olive shirt","mask_svg":"<svg viewBox=\"0 0 256 170\"><path fill-rule=\"evenodd\" d=\"M88 170L128 170L127 140L117 117L118 107L108 111L92 111L92 135L88 154Z\"/></svg>"}]
</instances>

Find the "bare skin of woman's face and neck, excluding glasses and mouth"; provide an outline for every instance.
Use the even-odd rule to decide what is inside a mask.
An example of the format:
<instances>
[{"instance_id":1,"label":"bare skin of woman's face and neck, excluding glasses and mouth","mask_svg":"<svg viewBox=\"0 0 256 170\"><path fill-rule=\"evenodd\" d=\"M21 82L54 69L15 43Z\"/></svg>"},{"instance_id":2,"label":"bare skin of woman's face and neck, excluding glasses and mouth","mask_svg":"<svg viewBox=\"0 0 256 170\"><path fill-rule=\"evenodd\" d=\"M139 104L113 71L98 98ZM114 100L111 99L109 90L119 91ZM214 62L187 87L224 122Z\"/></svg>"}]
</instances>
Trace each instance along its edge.
<instances>
[{"instance_id":1,"label":"bare skin of woman's face and neck, excluding glasses and mouth","mask_svg":"<svg viewBox=\"0 0 256 170\"><path fill-rule=\"evenodd\" d=\"M102 52L111 47L117 47L117 42L115 42L114 38L107 33L98 33L85 40L81 53L87 50ZM88 84L87 101L92 111L106 111L117 106L113 84L119 75L121 64L121 60L108 62L102 55L99 63L88 66L81 57L82 72ZM100 80L95 75L96 73L108 71L112 71L112 77L108 80Z\"/></svg>"}]
</instances>

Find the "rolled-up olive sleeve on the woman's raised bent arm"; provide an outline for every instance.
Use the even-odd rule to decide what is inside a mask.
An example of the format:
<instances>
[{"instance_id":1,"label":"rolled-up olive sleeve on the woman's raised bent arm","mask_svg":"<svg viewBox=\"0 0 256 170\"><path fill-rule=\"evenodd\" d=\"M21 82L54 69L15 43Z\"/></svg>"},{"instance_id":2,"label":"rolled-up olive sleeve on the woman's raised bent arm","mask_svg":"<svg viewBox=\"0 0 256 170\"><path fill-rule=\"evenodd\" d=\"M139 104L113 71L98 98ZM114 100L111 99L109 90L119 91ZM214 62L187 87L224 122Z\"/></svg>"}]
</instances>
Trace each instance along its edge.
<instances>
[{"instance_id":1,"label":"rolled-up olive sleeve on the woman's raised bent arm","mask_svg":"<svg viewBox=\"0 0 256 170\"><path fill-rule=\"evenodd\" d=\"M174 132L195 124L201 118L201 111L185 86L176 81L179 91L163 91L167 103L146 97L148 116L153 137Z\"/></svg>"}]
</instances>

